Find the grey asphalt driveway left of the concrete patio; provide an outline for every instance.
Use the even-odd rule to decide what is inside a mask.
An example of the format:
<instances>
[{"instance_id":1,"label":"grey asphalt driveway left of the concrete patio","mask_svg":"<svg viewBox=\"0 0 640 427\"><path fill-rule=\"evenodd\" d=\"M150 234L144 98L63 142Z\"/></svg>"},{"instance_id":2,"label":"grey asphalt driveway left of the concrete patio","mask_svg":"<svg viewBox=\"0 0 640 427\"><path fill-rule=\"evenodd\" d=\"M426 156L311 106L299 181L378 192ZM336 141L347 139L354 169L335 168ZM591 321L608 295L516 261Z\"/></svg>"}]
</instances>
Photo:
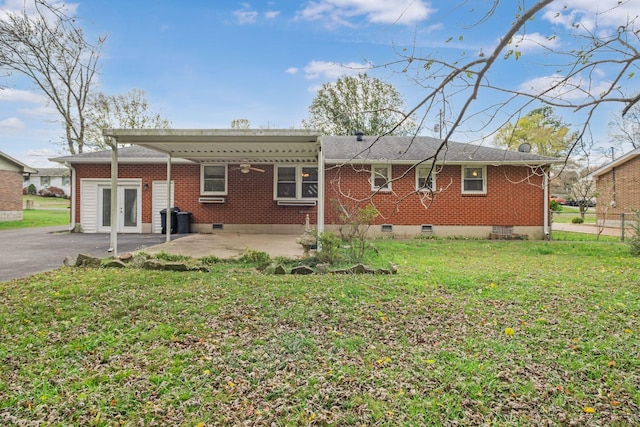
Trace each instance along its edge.
<instances>
[{"instance_id":1,"label":"grey asphalt driveway left of the concrete patio","mask_svg":"<svg viewBox=\"0 0 640 427\"><path fill-rule=\"evenodd\" d=\"M179 237L171 236L171 239ZM118 253L133 252L166 241L163 234L119 234ZM67 256L110 257L109 234L68 233L66 227L0 231L0 282L62 266Z\"/></svg>"}]
</instances>

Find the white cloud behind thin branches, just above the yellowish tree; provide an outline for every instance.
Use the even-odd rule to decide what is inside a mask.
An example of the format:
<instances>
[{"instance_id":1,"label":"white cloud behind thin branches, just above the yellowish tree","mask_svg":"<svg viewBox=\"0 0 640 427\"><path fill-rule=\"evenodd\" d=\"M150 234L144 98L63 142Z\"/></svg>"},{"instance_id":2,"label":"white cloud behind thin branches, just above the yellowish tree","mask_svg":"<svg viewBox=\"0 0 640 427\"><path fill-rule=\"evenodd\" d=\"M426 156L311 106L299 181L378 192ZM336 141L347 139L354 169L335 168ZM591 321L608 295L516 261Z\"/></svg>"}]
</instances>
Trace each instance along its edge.
<instances>
[{"instance_id":1,"label":"white cloud behind thin branches, just above the yellowish tree","mask_svg":"<svg viewBox=\"0 0 640 427\"><path fill-rule=\"evenodd\" d=\"M533 95L540 95L547 99L554 99L566 102L580 101L588 97L600 97L610 87L610 82L593 81L588 78L570 78L564 81L565 77L559 74L537 77L524 82L518 88L521 92Z\"/></svg>"}]
</instances>

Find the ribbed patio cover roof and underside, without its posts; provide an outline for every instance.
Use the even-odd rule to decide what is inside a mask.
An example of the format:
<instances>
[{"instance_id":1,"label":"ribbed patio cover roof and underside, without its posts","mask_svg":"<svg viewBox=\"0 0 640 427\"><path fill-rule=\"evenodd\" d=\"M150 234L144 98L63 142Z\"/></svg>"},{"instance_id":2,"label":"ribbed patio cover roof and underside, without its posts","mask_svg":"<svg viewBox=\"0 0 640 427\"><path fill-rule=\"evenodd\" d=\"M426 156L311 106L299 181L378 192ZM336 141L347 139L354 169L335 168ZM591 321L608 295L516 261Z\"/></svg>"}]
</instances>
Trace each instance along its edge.
<instances>
[{"instance_id":1,"label":"ribbed patio cover roof and underside, without its posts","mask_svg":"<svg viewBox=\"0 0 640 427\"><path fill-rule=\"evenodd\" d=\"M290 129L105 129L120 144L135 144L198 163L315 163L316 131Z\"/></svg>"}]
</instances>

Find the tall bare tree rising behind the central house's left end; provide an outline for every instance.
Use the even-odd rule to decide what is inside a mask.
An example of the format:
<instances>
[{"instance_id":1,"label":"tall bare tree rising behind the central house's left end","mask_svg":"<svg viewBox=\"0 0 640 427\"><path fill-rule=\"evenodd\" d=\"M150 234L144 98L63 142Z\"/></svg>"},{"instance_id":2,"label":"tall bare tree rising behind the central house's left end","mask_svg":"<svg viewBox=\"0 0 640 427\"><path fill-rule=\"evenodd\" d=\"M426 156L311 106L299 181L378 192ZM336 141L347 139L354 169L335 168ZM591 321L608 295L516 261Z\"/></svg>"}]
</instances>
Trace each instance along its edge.
<instances>
[{"instance_id":1,"label":"tall bare tree rising behind the central house's left end","mask_svg":"<svg viewBox=\"0 0 640 427\"><path fill-rule=\"evenodd\" d=\"M25 2L0 17L0 68L27 77L44 94L60 115L71 154L84 149L85 111L104 41L87 42L59 3Z\"/></svg>"}]
</instances>

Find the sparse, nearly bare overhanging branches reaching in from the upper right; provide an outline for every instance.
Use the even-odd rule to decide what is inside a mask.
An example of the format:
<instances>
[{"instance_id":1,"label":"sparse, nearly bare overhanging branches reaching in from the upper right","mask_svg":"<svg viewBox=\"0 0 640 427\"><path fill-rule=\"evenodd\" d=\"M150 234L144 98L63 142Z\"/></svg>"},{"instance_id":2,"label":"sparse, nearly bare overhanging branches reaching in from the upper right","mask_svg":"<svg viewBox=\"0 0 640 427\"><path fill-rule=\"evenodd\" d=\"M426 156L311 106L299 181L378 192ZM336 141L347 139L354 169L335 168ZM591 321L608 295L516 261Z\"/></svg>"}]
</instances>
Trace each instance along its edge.
<instances>
[{"instance_id":1,"label":"sparse, nearly bare overhanging branches reaching in from the upper right","mask_svg":"<svg viewBox=\"0 0 640 427\"><path fill-rule=\"evenodd\" d=\"M447 112L447 128L443 133L441 150L456 132L460 132L465 125L471 126L472 122L481 124L471 131L482 133L486 138L493 136L506 123L523 116L524 111L550 106L559 112L568 110L574 117L579 115L581 118L577 124L578 132L566 153L568 157L590 135L590 123L599 107L621 104L622 115L625 116L640 100L637 92L628 93L627 89L629 80L636 78L640 60L640 30L637 22L629 17L626 24L611 32L600 31L597 27L601 16L629 1L615 2L611 7L607 6L608 9L603 7L602 12L591 20L596 23L593 27L576 22L571 29L571 36L574 42L581 44L579 48L547 48L546 57L553 68L553 75L547 77L542 86L508 86L502 79L494 77L492 72L499 67L499 61L523 59L526 53L520 50L518 41L527 39L527 23L542 19L542 14L548 12L545 8L553 0L538 0L533 4L500 0L489 2L490 7L480 21L461 28L492 25L491 20L497 19L498 8L511 8L516 13L516 19L505 28L496 45L486 51L447 61L440 58L438 53L423 56L417 48L413 51L399 50L398 59L384 64L384 67L395 66L398 72L411 75L416 85L424 90L422 100L406 113L406 117L422 116L427 121L428 117ZM462 39L463 35L459 37ZM547 41L555 37L550 34ZM545 48L544 45L541 47ZM596 76L604 68L613 77L596 84ZM459 105L455 110L450 101L454 98ZM495 101L486 107L486 103L480 103L479 99Z\"/></svg>"}]
</instances>

